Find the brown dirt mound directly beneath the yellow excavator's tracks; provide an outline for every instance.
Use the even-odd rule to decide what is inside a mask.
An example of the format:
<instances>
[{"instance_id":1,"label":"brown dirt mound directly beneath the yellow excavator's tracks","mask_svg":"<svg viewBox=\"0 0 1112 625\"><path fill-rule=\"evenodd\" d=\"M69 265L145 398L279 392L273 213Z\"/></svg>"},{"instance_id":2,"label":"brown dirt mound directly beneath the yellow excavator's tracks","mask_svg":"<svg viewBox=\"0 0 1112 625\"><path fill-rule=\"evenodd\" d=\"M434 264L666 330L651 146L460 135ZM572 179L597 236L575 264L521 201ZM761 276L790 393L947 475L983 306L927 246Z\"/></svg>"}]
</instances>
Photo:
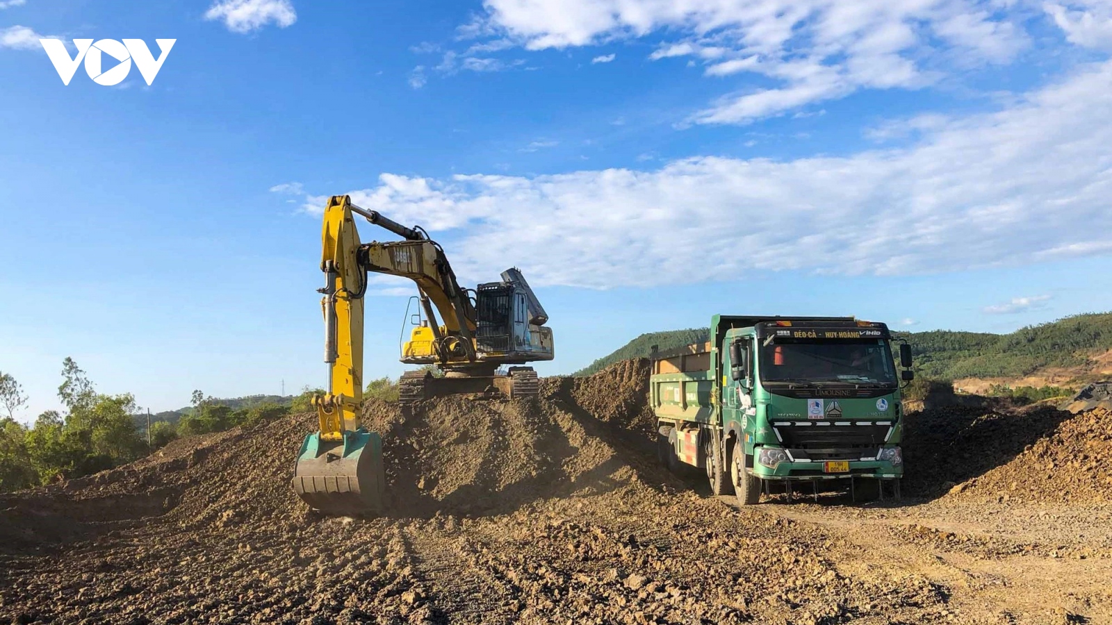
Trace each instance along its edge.
<instances>
[{"instance_id":1,"label":"brown dirt mound directly beneath the yellow excavator's tracks","mask_svg":"<svg viewBox=\"0 0 1112 625\"><path fill-rule=\"evenodd\" d=\"M383 434L395 514L505 513L638 479L605 427L552 401L376 403L364 419Z\"/></svg>"}]
</instances>

